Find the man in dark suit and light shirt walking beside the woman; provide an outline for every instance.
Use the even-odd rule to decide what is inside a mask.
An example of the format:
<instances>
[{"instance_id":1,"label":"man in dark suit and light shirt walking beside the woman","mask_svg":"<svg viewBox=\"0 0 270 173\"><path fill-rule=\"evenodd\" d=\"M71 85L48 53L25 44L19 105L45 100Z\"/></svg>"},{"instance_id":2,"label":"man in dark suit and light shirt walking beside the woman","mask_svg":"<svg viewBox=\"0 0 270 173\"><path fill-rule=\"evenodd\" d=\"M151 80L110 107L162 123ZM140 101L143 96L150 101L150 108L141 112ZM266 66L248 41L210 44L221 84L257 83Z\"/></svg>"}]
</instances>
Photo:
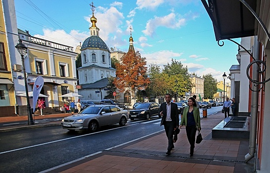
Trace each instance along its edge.
<instances>
[{"instance_id":1,"label":"man in dark suit and light shirt walking beside the woman","mask_svg":"<svg viewBox=\"0 0 270 173\"><path fill-rule=\"evenodd\" d=\"M162 116L161 126L164 126L165 133L168 139L167 155L170 155L170 151L174 148L173 134L174 130L179 127L179 115L177 104L171 102L171 95L165 94L166 102L160 106L159 113Z\"/></svg>"}]
</instances>

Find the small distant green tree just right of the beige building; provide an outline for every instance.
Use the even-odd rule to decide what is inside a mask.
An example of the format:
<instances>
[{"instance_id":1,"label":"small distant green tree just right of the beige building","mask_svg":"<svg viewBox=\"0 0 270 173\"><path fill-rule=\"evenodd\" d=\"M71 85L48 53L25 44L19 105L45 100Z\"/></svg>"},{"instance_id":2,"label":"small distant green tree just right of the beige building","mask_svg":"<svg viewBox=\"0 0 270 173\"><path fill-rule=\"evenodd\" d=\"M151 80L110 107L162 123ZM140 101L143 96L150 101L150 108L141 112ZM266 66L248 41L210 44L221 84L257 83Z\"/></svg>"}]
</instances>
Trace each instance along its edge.
<instances>
[{"instance_id":1,"label":"small distant green tree just right of the beige building","mask_svg":"<svg viewBox=\"0 0 270 173\"><path fill-rule=\"evenodd\" d=\"M204 79L204 98L213 99L216 94L216 79L212 76L212 74L206 74L203 76Z\"/></svg>"}]
</instances>

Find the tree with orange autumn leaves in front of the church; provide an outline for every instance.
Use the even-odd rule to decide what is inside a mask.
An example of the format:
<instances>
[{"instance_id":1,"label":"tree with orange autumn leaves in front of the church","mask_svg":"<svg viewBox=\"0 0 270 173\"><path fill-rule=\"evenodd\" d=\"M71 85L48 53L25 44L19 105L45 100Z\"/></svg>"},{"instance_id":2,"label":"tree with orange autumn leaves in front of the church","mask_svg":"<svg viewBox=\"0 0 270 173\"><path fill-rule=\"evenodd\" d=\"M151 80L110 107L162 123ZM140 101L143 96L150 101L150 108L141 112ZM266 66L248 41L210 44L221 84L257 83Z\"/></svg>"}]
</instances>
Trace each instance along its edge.
<instances>
[{"instance_id":1,"label":"tree with orange autumn leaves in front of the church","mask_svg":"<svg viewBox=\"0 0 270 173\"><path fill-rule=\"evenodd\" d=\"M125 88L132 91L131 97L135 96L135 91L140 87L146 89L150 83L147 77L146 58L141 57L139 51L128 51L125 53L116 66L116 78L113 81L115 87L121 92Z\"/></svg>"}]
</instances>

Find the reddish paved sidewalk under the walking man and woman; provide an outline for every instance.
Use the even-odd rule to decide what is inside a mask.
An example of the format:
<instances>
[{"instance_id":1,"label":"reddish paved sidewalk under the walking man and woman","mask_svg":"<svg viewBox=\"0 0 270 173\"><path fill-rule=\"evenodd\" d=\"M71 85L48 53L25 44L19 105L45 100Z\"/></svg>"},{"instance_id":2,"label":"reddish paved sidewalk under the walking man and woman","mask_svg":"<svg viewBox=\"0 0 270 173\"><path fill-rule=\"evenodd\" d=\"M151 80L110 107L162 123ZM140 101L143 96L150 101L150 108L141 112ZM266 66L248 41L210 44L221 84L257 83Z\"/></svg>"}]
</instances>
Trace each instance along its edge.
<instances>
[{"instance_id":1,"label":"reddish paved sidewalk under the walking man and woman","mask_svg":"<svg viewBox=\"0 0 270 173\"><path fill-rule=\"evenodd\" d=\"M182 128L169 156L161 131L42 173L251 173L253 159L244 162L249 140L212 138L212 129L223 117L220 112L201 119L204 139L195 145L193 157L189 157L190 145Z\"/></svg>"}]
</instances>

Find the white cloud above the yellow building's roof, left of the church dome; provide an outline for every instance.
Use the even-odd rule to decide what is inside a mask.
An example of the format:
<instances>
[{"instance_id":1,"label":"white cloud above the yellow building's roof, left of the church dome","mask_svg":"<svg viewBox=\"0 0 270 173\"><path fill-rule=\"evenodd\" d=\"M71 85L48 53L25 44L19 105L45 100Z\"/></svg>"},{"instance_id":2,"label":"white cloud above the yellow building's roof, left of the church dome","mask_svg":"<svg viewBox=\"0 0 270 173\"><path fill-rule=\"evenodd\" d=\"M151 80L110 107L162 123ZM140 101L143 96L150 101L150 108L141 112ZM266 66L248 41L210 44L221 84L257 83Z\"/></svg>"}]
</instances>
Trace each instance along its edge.
<instances>
[{"instance_id":1,"label":"white cloud above the yellow building's roof, left of the church dome","mask_svg":"<svg viewBox=\"0 0 270 173\"><path fill-rule=\"evenodd\" d=\"M34 35L34 37L60 43L68 46L75 47L79 43L83 43L84 40L90 37L89 33L79 33L76 30L71 30L70 33L66 33L64 30L50 30L43 29L44 35Z\"/></svg>"}]
</instances>

